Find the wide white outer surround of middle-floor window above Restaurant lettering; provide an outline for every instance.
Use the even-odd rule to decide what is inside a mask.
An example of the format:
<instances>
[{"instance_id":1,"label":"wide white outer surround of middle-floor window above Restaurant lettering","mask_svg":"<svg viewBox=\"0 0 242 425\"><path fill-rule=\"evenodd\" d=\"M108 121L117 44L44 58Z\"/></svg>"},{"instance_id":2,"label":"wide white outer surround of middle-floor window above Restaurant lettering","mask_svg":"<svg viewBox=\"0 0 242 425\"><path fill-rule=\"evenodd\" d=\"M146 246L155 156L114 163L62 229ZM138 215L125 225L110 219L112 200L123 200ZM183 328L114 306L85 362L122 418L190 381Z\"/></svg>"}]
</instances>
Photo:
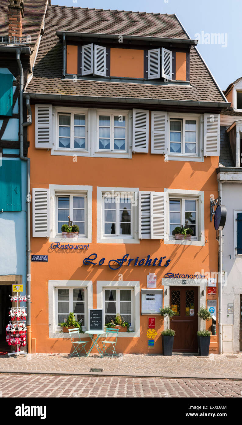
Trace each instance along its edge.
<instances>
[{"instance_id":1,"label":"wide white outer surround of middle-floor window above Restaurant lettering","mask_svg":"<svg viewBox=\"0 0 242 425\"><path fill-rule=\"evenodd\" d=\"M88 244L92 242L92 186L69 186L61 184L50 184L50 242L62 242L62 244L77 242ZM62 196L86 196L85 200L85 232L86 235L78 235L75 238L62 238L57 233L58 220L58 195Z\"/></svg>"}]
</instances>

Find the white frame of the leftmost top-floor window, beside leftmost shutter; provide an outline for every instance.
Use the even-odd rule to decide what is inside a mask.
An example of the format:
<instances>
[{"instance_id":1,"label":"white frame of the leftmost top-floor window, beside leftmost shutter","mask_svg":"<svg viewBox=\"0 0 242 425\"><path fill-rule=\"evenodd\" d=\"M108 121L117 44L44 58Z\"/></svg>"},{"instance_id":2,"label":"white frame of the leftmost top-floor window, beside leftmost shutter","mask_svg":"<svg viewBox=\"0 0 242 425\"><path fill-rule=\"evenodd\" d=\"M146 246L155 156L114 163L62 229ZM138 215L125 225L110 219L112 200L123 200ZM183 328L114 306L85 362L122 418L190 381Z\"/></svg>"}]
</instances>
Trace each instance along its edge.
<instances>
[{"instance_id":1,"label":"white frame of the leftmost top-floor window, beside leftmost shutter","mask_svg":"<svg viewBox=\"0 0 242 425\"><path fill-rule=\"evenodd\" d=\"M59 147L59 115L70 115L71 116L71 126L70 126L70 147ZM85 115L86 117L86 148L74 148L74 115ZM66 153L78 152L81 154L89 153L89 113L86 108L64 108L64 107L56 107L53 108L53 150Z\"/></svg>"}]
</instances>

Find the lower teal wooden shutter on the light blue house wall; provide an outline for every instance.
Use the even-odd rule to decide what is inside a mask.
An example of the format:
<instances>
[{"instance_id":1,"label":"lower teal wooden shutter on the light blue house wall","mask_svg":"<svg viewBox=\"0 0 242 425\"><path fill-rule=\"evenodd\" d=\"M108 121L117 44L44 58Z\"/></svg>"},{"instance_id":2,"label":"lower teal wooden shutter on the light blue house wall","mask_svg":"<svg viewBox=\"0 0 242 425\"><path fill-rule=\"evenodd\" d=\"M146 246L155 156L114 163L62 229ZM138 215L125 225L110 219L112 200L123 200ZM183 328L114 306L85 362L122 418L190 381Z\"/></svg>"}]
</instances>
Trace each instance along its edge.
<instances>
[{"instance_id":1,"label":"lower teal wooden shutter on the light blue house wall","mask_svg":"<svg viewBox=\"0 0 242 425\"><path fill-rule=\"evenodd\" d=\"M21 162L3 159L0 167L0 211L21 211Z\"/></svg>"}]
</instances>

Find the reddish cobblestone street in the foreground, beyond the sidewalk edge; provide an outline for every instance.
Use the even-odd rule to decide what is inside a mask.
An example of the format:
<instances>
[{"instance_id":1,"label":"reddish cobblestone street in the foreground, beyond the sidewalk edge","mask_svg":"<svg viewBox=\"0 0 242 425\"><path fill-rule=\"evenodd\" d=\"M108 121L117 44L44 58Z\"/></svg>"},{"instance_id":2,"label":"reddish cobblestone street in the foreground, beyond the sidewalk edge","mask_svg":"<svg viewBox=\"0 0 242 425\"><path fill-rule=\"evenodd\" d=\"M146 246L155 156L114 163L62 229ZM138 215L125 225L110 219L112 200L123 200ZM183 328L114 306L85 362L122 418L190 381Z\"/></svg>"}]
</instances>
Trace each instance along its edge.
<instances>
[{"instance_id":1,"label":"reddish cobblestone street in the foreground, beyond the sidewalk edge","mask_svg":"<svg viewBox=\"0 0 242 425\"><path fill-rule=\"evenodd\" d=\"M2 397L242 397L242 381L0 374Z\"/></svg>"}]
</instances>

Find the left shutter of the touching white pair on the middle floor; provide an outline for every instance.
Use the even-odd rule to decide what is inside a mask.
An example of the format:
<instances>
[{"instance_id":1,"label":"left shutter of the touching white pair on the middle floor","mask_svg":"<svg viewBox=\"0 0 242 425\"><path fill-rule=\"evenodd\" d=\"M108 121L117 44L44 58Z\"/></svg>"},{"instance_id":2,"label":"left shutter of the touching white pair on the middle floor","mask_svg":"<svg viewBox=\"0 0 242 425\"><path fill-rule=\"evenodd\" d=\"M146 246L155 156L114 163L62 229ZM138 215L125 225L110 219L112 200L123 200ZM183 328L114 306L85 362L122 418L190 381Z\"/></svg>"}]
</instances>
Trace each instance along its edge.
<instances>
[{"instance_id":1,"label":"left shutter of the touching white pair on the middle floor","mask_svg":"<svg viewBox=\"0 0 242 425\"><path fill-rule=\"evenodd\" d=\"M139 192L139 239L150 239L150 192Z\"/></svg>"}]
</instances>

